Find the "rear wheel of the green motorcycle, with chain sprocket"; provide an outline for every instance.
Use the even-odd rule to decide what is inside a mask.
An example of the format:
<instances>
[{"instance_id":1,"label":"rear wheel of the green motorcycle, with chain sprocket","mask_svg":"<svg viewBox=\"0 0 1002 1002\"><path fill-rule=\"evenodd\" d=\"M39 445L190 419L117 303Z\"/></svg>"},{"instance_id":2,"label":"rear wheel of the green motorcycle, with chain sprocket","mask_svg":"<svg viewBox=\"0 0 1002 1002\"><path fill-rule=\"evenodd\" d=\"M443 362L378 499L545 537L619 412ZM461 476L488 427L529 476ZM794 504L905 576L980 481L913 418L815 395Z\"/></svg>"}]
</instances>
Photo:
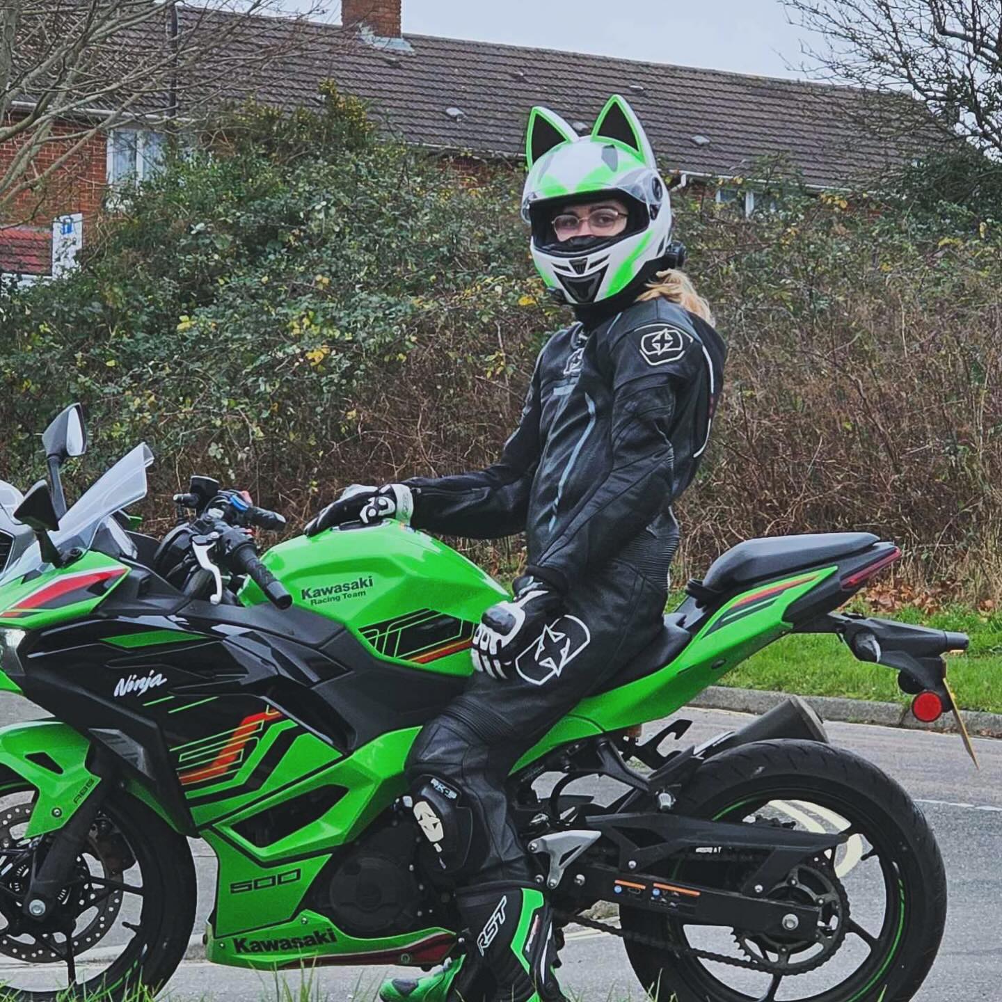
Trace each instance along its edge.
<instances>
[{"instance_id":1,"label":"rear wheel of the green motorcycle, with chain sprocket","mask_svg":"<svg viewBox=\"0 0 1002 1002\"><path fill-rule=\"evenodd\" d=\"M759 741L709 760L674 812L847 839L765 892L821 908L817 931L766 937L622 908L627 954L652 998L906 1002L919 990L946 923L943 860L925 817L875 766L814 741ZM673 863L665 876L737 890L757 867L721 847Z\"/></svg>"}]
</instances>

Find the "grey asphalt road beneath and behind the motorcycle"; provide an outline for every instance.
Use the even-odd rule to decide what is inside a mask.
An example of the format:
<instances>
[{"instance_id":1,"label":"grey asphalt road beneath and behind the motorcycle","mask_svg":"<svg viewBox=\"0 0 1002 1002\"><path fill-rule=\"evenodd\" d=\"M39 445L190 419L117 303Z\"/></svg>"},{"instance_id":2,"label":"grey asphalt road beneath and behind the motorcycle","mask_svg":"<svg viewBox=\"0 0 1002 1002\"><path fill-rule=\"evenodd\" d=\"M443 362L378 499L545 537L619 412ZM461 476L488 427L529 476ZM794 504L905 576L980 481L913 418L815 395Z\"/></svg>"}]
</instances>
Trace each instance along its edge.
<instances>
[{"instance_id":1,"label":"grey asphalt road beneath and behind the motorcycle","mask_svg":"<svg viewBox=\"0 0 1002 1002\"><path fill-rule=\"evenodd\" d=\"M712 710L691 710L692 737L701 740L739 726L744 717ZM976 738L981 772L976 772L956 735L831 723L834 742L852 748L897 779L919 802L943 852L950 881L950 916L942 950L921 1002L976 1002L1002 999L1002 949L996 918L1002 897L1002 741ZM204 847L201 851L205 852ZM209 906L212 860L198 858L202 877L199 915ZM564 990L582 1002L620 1002L644 997L615 939L588 930L571 932L563 955ZM370 1002L390 971L326 968L304 977L297 973L263 975L203 962L185 962L168 985L165 998L177 1002L213 999L247 1002L313 1002L330 999ZM393 973L407 975L403 970ZM809 976L810 977L810 976ZM0 979L3 970L0 968ZM780 999L796 998L796 993Z\"/></svg>"}]
</instances>

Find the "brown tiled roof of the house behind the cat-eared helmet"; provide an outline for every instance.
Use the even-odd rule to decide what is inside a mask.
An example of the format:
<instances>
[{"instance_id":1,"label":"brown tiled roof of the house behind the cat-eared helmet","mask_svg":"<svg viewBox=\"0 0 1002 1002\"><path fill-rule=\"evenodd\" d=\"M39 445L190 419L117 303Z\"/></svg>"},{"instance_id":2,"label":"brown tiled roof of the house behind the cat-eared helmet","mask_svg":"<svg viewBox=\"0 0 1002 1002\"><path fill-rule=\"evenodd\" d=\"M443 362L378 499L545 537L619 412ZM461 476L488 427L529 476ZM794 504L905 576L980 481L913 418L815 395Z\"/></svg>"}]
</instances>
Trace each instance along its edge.
<instances>
[{"instance_id":1,"label":"brown tiled roof of the house behind the cat-eared helmet","mask_svg":"<svg viewBox=\"0 0 1002 1002\"><path fill-rule=\"evenodd\" d=\"M905 155L859 127L874 95L857 88L426 35L407 35L412 51L395 50L391 65L339 25L276 18L248 19L228 37L288 47L234 80L233 97L294 107L332 79L369 101L390 132L431 147L518 157L533 104L590 123L619 92L662 162L690 173L743 173L757 157L787 155L809 184L830 186ZM696 134L709 142L695 145Z\"/></svg>"}]
</instances>

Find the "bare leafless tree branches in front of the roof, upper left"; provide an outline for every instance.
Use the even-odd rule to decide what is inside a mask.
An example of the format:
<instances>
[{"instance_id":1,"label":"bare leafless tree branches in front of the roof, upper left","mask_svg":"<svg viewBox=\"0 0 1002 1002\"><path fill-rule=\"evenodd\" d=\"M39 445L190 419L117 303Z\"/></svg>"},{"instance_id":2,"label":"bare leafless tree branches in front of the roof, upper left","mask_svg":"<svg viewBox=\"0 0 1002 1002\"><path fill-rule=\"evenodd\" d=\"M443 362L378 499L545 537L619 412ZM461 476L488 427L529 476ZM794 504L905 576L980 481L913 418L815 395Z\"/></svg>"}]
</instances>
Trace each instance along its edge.
<instances>
[{"instance_id":1,"label":"bare leafless tree branches in front of the roof, upper left","mask_svg":"<svg viewBox=\"0 0 1002 1002\"><path fill-rule=\"evenodd\" d=\"M0 219L95 135L194 122L253 93L318 9L280 20L265 15L284 0L0 0Z\"/></svg>"}]
</instances>

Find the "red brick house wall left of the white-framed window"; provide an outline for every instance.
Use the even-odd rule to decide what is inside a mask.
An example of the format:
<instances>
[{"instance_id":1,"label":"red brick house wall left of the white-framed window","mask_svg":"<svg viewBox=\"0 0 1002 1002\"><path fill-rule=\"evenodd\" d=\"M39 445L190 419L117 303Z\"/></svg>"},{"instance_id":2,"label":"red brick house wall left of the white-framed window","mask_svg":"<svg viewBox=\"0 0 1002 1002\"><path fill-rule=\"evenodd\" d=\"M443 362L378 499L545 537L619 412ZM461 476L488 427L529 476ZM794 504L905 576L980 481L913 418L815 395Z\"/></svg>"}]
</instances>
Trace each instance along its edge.
<instances>
[{"instance_id":1,"label":"red brick house wall left of the white-framed window","mask_svg":"<svg viewBox=\"0 0 1002 1002\"><path fill-rule=\"evenodd\" d=\"M53 135L67 135L78 130L79 126L72 124L57 125ZM0 145L0 175L9 166L21 141L15 138ZM28 168L28 177L39 174L63 155L70 145L70 139L45 143ZM40 225L48 225L53 216L66 212L83 212L86 218L101 207L106 177L106 139L103 134L97 133L50 178L23 192L4 214L12 222L31 221Z\"/></svg>"}]
</instances>

